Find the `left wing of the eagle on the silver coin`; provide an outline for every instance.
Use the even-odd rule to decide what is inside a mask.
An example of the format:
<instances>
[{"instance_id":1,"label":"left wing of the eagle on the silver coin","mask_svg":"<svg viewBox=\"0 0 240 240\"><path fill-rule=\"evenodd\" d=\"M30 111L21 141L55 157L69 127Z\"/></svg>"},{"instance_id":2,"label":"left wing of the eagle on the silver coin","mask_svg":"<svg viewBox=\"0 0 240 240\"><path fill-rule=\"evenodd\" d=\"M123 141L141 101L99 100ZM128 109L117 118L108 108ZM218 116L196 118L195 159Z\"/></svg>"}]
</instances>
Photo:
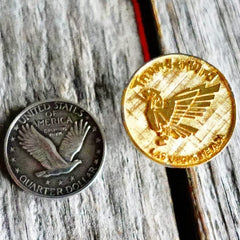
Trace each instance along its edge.
<instances>
[{"instance_id":1,"label":"left wing of the eagle on the silver coin","mask_svg":"<svg viewBox=\"0 0 240 240\"><path fill-rule=\"evenodd\" d=\"M61 168L67 163L58 154L53 142L40 134L33 125L26 124L19 130L20 145L47 169Z\"/></svg>"}]
</instances>

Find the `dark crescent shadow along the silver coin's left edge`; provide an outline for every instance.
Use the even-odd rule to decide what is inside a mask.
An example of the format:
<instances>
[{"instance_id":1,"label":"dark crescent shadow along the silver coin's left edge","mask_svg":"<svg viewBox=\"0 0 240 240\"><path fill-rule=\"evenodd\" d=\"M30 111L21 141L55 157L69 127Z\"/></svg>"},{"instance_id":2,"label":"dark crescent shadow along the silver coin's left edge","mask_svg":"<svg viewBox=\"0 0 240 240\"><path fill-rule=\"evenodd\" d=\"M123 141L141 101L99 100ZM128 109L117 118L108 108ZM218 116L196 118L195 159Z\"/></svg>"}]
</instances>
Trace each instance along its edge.
<instances>
[{"instance_id":1,"label":"dark crescent shadow along the silver coin's left edge","mask_svg":"<svg viewBox=\"0 0 240 240\"><path fill-rule=\"evenodd\" d=\"M15 117L23 110L23 108L15 108L12 109L10 114L8 115L7 119L5 122L3 122L1 129L0 129L0 154L2 156L1 161L0 161L0 171L3 175L3 177L9 178L9 173L5 164L5 150L4 150L4 140L5 136L7 134L8 128L12 121L15 119Z\"/></svg>"}]
</instances>

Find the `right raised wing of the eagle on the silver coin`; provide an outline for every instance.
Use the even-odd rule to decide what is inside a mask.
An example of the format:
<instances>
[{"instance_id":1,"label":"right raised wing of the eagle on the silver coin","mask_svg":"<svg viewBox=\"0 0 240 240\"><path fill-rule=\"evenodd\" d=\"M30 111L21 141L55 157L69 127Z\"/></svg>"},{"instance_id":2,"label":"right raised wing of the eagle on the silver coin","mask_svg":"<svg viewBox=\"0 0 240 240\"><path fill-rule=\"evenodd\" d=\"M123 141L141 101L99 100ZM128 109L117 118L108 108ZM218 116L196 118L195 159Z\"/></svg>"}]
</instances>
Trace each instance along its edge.
<instances>
[{"instance_id":1,"label":"right raised wing of the eagle on the silver coin","mask_svg":"<svg viewBox=\"0 0 240 240\"><path fill-rule=\"evenodd\" d=\"M83 142L90 130L88 122L75 121L59 147L59 153L66 161L72 161L74 155L82 148Z\"/></svg>"}]
</instances>

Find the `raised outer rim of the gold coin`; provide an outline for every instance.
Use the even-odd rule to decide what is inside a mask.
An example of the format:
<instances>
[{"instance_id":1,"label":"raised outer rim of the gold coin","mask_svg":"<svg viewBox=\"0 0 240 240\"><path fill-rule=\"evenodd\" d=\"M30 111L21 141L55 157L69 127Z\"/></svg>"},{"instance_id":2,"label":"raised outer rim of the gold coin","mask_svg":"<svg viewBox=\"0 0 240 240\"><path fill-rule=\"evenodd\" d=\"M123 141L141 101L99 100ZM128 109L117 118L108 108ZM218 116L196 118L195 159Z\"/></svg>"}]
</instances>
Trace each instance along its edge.
<instances>
[{"instance_id":1,"label":"raised outer rim of the gold coin","mask_svg":"<svg viewBox=\"0 0 240 240\"><path fill-rule=\"evenodd\" d=\"M131 84L131 81L132 79L135 77L135 75L142 69L142 68L146 68L147 65L150 65L152 62L156 61L156 60L159 60L161 58L165 58L165 57L171 57L171 56L184 56L184 57L191 57L191 58L196 58L200 61L203 61L205 63L207 63L208 65L210 65L211 67L213 67L214 69L217 70L218 74L220 75L221 79L223 79L223 83L224 83L224 86L227 88L227 90L230 92L230 99L231 99L231 102L232 102L232 116L231 116L231 120L232 120L232 124L231 124L231 127L230 127L230 130L227 134L228 136L228 139L227 141L224 143L224 145L222 146L221 150L219 152L217 152L216 154L214 154L212 157L210 158L206 158L204 161L201 161L201 162L198 162L198 163L192 163L192 164L188 164L188 165L183 165L183 164L169 164L169 163L165 163L163 161L160 161L159 159L157 158L154 158L154 157L151 157L150 155L148 155L143 149L141 149L141 147L138 145L138 143L133 139L130 131L129 131L129 128L127 127L127 124L126 124L126 118L125 118L125 114L124 114L124 109L125 109L125 97L126 97L126 92ZM150 65L151 66L151 65ZM215 158L216 156L218 156L218 154L220 154L225 148L226 146L229 144L230 142L230 139L232 138L232 135L233 135L233 132L235 130L235 126L236 126L236 101L235 101L235 98L234 98L234 94L233 94L233 91L230 87L230 84L228 83L227 79L225 78L225 76L223 75L223 73L218 69L216 68L215 66L213 66L212 64L210 64L208 61L200 58L200 57L196 57L196 56L193 56L193 55L189 55L189 54L182 54L182 53L170 53L170 54L165 54L165 55L162 55L162 56L159 56L159 57L155 57L151 60L149 60L148 62L146 62L145 64L143 64L141 67L139 67L131 76L130 78L130 81L126 84L126 87L124 88L123 90L123 94L122 94L122 101L121 101L121 117L122 117L122 121L123 121L123 125L124 125L124 128L127 132L127 135L128 137L131 139L131 141L134 143L134 146L135 148L137 148L138 151L140 151L141 153L143 153L147 158L157 162L157 163L160 163L162 165L164 165L165 167L169 167L169 168L191 168L191 167L195 167L195 166L198 166L198 165L201 165L201 164L204 164L204 163L207 163L209 161L211 161L213 158Z\"/></svg>"}]
</instances>

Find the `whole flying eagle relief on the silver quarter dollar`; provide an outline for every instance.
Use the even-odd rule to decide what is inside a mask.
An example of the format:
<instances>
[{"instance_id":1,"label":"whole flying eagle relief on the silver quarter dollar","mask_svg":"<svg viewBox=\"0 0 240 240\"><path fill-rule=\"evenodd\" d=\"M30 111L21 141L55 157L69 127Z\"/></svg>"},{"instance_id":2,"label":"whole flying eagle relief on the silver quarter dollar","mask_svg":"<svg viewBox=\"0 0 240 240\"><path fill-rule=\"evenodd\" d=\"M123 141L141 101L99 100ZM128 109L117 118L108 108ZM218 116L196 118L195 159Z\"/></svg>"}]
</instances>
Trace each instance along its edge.
<instances>
[{"instance_id":1,"label":"whole flying eagle relief on the silver quarter dollar","mask_svg":"<svg viewBox=\"0 0 240 240\"><path fill-rule=\"evenodd\" d=\"M74 156L81 150L83 142L90 130L88 122L75 121L63 138L59 151L54 143L39 133L33 125L26 124L19 130L20 145L32 157L38 160L47 170L36 172L37 177L51 177L70 173L82 163Z\"/></svg>"}]
</instances>

